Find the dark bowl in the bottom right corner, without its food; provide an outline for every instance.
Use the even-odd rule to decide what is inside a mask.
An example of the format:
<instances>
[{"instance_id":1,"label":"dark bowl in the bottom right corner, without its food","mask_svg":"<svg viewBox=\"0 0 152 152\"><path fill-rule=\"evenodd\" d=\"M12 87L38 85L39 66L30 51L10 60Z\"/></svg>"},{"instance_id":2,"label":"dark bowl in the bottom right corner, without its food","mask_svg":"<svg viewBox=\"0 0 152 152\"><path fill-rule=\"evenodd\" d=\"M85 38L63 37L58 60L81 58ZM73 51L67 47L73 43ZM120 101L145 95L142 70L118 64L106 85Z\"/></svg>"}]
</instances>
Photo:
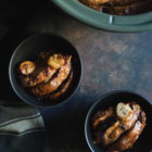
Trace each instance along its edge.
<instances>
[{"instance_id":1,"label":"dark bowl in the bottom right corner, without its food","mask_svg":"<svg viewBox=\"0 0 152 152\"><path fill-rule=\"evenodd\" d=\"M145 98L129 91L113 91L102 96L89 110L85 122L85 136L92 152L105 152L101 145L94 144L92 140L91 117L99 110L116 105L118 102L136 101L147 114L147 126L135 143L127 152L150 152L152 151L152 104Z\"/></svg>"}]
</instances>

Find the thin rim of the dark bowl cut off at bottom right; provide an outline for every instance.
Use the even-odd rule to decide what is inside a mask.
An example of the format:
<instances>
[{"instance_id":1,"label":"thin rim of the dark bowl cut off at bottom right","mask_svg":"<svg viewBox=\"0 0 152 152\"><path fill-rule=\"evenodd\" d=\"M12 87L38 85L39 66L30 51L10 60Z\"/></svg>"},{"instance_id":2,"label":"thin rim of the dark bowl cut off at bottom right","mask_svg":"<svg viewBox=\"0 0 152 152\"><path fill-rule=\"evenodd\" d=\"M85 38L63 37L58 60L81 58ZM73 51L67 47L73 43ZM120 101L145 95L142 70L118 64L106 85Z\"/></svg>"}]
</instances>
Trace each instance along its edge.
<instances>
[{"instance_id":1,"label":"thin rim of the dark bowl cut off at bottom right","mask_svg":"<svg viewBox=\"0 0 152 152\"><path fill-rule=\"evenodd\" d=\"M148 98L145 98L144 96L141 96L140 93L137 93L135 91L130 91L130 90L113 90L113 91L110 91L110 92L106 92L106 93L100 96L99 99L90 106L90 109L87 113L86 119L85 119L85 138L86 138L86 141L88 143L88 147L90 148L90 150L92 152L94 152L94 150L92 149L92 147L90 144L90 141L89 141L89 138L88 138L88 131L87 131L88 122L90 119L91 113L92 113L93 109L97 106L97 104L102 102L102 100L104 98L116 94L116 93L130 93L130 94L138 96L138 97L142 98L145 102L148 102L150 104L150 106L152 107L152 103L148 100Z\"/></svg>"}]
</instances>

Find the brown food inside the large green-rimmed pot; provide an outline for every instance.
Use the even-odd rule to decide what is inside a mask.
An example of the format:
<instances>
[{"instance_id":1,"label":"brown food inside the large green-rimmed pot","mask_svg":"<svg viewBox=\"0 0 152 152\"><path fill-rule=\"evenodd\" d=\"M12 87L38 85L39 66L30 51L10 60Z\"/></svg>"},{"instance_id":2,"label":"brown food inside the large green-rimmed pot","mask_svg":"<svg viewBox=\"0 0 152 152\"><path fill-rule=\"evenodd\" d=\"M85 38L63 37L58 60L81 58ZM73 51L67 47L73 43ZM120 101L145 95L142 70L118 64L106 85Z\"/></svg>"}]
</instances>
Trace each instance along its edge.
<instances>
[{"instance_id":1,"label":"brown food inside the large green-rimmed pot","mask_svg":"<svg viewBox=\"0 0 152 152\"><path fill-rule=\"evenodd\" d=\"M151 0L79 0L81 3L104 13L131 15L152 10Z\"/></svg>"}]
</instances>

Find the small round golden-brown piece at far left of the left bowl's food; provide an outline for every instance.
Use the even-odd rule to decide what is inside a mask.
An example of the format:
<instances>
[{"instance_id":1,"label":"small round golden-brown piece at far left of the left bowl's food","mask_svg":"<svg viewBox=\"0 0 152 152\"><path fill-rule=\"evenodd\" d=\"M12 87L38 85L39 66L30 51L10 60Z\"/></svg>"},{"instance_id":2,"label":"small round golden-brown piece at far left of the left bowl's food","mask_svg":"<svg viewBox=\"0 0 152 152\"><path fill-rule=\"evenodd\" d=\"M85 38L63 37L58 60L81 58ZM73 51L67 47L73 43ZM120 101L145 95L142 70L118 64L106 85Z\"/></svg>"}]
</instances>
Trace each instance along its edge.
<instances>
[{"instance_id":1,"label":"small round golden-brown piece at far left of the left bowl's food","mask_svg":"<svg viewBox=\"0 0 152 152\"><path fill-rule=\"evenodd\" d=\"M36 68L36 65L31 61L24 61L20 64L20 72L23 75L29 75L31 74Z\"/></svg>"}]
</instances>

